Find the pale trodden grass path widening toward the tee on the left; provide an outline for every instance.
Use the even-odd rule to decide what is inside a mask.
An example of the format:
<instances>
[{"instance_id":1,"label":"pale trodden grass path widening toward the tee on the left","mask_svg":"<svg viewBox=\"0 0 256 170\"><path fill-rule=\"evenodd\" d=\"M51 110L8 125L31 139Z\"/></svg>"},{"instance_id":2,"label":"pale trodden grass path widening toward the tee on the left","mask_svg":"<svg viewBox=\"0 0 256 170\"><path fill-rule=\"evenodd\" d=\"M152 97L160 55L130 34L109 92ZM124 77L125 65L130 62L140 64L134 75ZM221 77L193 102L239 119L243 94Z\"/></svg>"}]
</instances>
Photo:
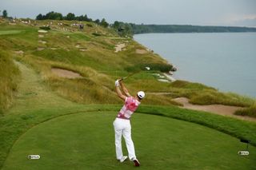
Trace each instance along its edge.
<instances>
[{"instance_id":1,"label":"pale trodden grass path widening toward the tee on the left","mask_svg":"<svg viewBox=\"0 0 256 170\"><path fill-rule=\"evenodd\" d=\"M22 73L22 80L18 85L17 99L9 113L22 113L33 109L46 109L63 105L73 105L62 97L58 97L42 83L42 77L29 66L15 61Z\"/></svg>"}]
</instances>

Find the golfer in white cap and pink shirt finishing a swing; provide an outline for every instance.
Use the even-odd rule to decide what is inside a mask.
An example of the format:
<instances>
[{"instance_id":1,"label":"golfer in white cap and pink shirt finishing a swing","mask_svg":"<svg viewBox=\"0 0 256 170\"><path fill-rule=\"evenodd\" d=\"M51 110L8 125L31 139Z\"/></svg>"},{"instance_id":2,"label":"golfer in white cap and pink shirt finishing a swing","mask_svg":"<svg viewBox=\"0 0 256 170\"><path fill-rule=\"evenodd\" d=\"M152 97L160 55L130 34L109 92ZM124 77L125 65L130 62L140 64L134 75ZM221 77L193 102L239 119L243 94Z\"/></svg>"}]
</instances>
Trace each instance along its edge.
<instances>
[{"instance_id":1,"label":"golfer in white cap and pink shirt finishing a swing","mask_svg":"<svg viewBox=\"0 0 256 170\"><path fill-rule=\"evenodd\" d=\"M140 105L142 98L145 97L145 93L140 91L137 93L136 97L131 97L125 85L123 85L122 80L115 81L115 87L116 92L118 93L118 97L120 97L122 101L125 101L125 105L122 106L122 109L119 111L118 116L113 123L116 156L120 162L123 162L127 159L127 156L122 155L123 136L126 140L126 148L128 150L129 159L134 161L134 165L138 167L139 162L135 156L134 142L130 136L130 117L138 108L138 105Z\"/></svg>"}]
</instances>

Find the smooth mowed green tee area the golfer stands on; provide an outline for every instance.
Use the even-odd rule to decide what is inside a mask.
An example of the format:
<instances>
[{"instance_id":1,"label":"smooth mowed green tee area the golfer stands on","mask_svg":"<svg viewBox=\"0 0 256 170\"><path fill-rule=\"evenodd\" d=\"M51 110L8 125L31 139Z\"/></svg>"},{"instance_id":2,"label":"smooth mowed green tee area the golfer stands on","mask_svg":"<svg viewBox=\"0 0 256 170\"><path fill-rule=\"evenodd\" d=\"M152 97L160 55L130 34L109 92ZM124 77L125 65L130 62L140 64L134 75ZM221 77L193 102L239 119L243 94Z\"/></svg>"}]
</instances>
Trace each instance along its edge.
<instances>
[{"instance_id":1,"label":"smooth mowed green tee area the golfer stands on","mask_svg":"<svg viewBox=\"0 0 256 170\"><path fill-rule=\"evenodd\" d=\"M131 169L115 159L116 112L77 113L30 128L10 150L2 169ZM140 169L254 169L256 148L202 125L135 113L132 136ZM127 155L123 142L123 152ZM40 160L28 160L39 154Z\"/></svg>"}]
</instances>

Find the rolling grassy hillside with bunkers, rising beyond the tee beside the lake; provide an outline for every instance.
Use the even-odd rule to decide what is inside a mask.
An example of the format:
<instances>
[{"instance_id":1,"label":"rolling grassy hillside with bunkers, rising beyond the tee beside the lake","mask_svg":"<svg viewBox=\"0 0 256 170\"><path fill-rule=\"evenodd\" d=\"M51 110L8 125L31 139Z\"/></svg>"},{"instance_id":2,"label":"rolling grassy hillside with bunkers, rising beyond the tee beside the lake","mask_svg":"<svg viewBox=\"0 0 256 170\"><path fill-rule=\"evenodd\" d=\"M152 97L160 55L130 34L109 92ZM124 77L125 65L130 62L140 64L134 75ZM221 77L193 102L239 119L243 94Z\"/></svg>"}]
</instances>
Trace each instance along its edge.
<instances>
[{"instance_id":1,"label":"rolling grassy hillside with bunkers, rising beyond the tee beside the lake","mask_svg":"<svg viewBox=\"0 0 256 170\"><path fill-rule=\"evenodd\" d=\"M44 78L44 83L62 97L79 103L117 103L113 81L138 70L142 72L126 83L133 93L138 89L150 93L144 101L146 104L177 105L171 101L172 97L188 97L192 103L199 105L249 106L254 102L246 97L219 93L214 88L197 83L157 81L158 77L153 73L161 74L161 71L171 68L162 57L147 51L130 38L119 37L112 29L82 23L85 28L79 30L78 26L71 26L74 22L68 21L31 21L24 24L19 20L15 23L2 20L0 48L15 60L36 69ZM50 25L50 30L38 32L39 27L46 25ZM115 53L114 47L118 44L125 44L125 47ZM138 53L136 49L142 49L144 53ZM146 71L145 66L150 66L151 70ZM56 77L51 68L73 70L84 78L69 80ZM169 94L155 95L153 92Z\"/></svg>"}]
</instances>

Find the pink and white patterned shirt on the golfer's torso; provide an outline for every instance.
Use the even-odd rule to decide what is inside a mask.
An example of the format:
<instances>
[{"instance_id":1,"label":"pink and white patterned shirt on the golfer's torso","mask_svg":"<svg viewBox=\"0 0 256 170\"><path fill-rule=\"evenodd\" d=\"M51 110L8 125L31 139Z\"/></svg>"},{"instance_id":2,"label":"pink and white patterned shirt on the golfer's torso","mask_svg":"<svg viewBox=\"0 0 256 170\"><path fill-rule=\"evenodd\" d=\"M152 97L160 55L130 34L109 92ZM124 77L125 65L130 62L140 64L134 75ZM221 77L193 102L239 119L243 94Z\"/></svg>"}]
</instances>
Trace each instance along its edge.
<instances>
[{"instance_id":1,"label":"pink and white patterned shirt on the golfer's torso","mask_svg":"<svg viewBox=\"0 0 256 170\"><path fill-rule=\"evenodd\" d=\"M134 97L126 97L125 105L123 105L122 109L119 111L118 117L122 119L130 119L139 104L141 104L141 102L137 101Z\"/></svg>"}]
</instances>

